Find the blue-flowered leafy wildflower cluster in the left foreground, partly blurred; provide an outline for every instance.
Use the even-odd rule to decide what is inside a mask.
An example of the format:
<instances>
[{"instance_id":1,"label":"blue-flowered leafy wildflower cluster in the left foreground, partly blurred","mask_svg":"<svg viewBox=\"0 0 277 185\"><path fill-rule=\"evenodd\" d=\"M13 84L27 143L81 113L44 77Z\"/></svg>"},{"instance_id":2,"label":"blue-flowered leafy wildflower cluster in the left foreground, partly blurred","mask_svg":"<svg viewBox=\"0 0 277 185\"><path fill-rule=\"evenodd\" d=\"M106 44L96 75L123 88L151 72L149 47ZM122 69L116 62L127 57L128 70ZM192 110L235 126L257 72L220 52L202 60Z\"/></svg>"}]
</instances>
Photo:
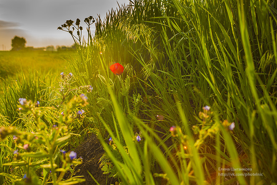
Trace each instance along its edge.
<instances>
[{"instance_id":1,"label":"blue-flowered leafy wildflower cluster in the left foreground, partly blurred","mask_svg":"<svg viewBox=\"0 0 277 185\"><path fill-rule=\"evenodd\" d=\"M74 89L70 88L70 84L73 80L73 74L61 73L62 82L60 89L62 96L62 102L65 101L65 97L68 97L68 92ZM90 85L85 86L87 91L91 91ZM63 89L64 92L63 93ZM67 121L71 121L75 118L83 118L85 114L84 107L88 104L85 94L74 96L66 105L54 105L57 111L63 108L63 112L60 114L59 124L57 122L49 123L45 121L47 119L41 119L44 116L43 109L40 107L40 101L31 101L27 98L18 99L19 116L22 118L22 124L26 127L25 131L18 130L17 128L1 127L0 139L12 138L14 142L13 162L3 165L9 166L21 166L25 172L23 178L16 175L10 176L10 178L23 179L28 184L46 184L48 181L57 183L64 183L64 175L67 170L72 170L76 165L81 164L82 159L77 158L77 153L74 151L66 152L65 150L58 150L68 143L68 139L71 134L68 133ZM60 162L57 163L57 157L60 157ZM73 166L72 166L73 165ZM75 165L75 166L74 166ZM59 168L57 168L59 166ZM35 171L42 171L42 173L35 173ZM74 179L74 174L71 177ZM12 179L12 180L15 180ZM42 179L42 180L39 180ZM70 180L70 179L67 179ZM42 182L43 181L43 182ZM75 178L71 184L81 183L83 179Z\"/></svg>"}]
</instances>

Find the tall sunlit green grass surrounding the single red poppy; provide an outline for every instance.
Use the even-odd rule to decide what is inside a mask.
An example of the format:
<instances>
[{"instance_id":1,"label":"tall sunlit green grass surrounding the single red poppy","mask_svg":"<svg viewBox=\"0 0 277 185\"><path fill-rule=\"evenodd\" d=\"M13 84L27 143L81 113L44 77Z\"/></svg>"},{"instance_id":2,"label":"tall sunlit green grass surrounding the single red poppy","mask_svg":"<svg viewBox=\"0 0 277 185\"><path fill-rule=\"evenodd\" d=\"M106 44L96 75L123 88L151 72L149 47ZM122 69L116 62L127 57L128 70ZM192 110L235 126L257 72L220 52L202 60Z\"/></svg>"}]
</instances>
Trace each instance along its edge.
<instances>
[{"instance_id":1,"label":"tall sunlit green grass surrounding the single red poppy","mask_svg":"<svg viewBox=\"0 0 277 185\"><path fill-rule=\"evenodd\" d=\"M38 132L54 133L54 124L66 125L71 137L61 148L70 150L96 134L105 150L102 170L121 184L275 184L275 8L271 1L252 0L130 1L111 10L104 22L96 20L94 38L69 60L73 77L62 74L59 87L52 88L57 74L51 73L30 74L19 84L9 81L0 99L2 125L26 129L26 121L19 121L24 116L16 119L18 96L41 100L45 112L34 123L47 129L40 131L37 124ZM125 67L120 76L109 69L117 62ZM70 104L79 93L89 103L81 116ZM58 148L45 140L53 148L46 159L55 171L52 156ZM2 164L8 162L3 156L13 155L11 138L5 142L2 148L9 150ZM41 168L46 169L33 169L32 181L48 181L38 174ZM26 170L2 169L13 180ZM59 171L51 174L54 184ZM88 183L97 181L88 173Z\"/></svg>"}]
</instances>

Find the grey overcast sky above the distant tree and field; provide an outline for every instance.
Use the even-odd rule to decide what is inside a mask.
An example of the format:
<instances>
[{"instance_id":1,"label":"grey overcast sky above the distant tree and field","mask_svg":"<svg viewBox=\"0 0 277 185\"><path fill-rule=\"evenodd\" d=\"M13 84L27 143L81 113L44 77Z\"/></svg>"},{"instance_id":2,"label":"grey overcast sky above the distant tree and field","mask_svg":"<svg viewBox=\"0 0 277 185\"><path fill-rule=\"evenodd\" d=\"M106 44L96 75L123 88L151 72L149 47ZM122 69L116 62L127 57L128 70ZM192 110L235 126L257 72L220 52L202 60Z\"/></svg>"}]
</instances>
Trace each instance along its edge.
<instances>
[{"instance_id":1,"label":"grey overcast sky above the distant tree and field","mask_svg":"<svg viewBox=\"0 0 277 185\"><path fill-rule=\"evenodd\" d=\"M24 37L26 46L71 46L70 34L57 30L61 24L79 18L85 28L86 17L96 19L100 14L103 20L117 2L129 4L129 0L0 0L0 50L10 50L15 35Z\"/></svg>"}]
</instances>

